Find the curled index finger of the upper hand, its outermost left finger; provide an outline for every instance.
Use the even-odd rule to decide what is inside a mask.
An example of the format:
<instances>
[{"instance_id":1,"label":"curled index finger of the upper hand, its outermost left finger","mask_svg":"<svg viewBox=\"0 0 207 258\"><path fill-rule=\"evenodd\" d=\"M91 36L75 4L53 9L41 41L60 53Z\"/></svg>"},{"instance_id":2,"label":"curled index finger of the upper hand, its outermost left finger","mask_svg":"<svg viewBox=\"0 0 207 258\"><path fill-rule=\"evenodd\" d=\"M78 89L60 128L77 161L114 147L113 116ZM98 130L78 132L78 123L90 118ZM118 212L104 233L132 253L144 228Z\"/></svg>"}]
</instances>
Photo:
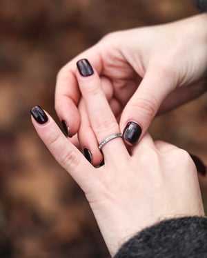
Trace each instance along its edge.
<instances>
[{"instance_id":1,"label":"curled index finger of the upper hand, its outermost left finger","mask_svg":"<svg viewBox=\"0 0 207 258\"><path fill-rule=\"evenodd\" d=\"M55 89L55 110L63 123L63 128L69 136L75 135L80 125L79 110L77 109L80 92L75 75L76 63L83 57L90 58L92 65L98 72L101 72L102 62L99 48L93 46L85 52L72 59L66 66L63 66L57 75Z\"/></svg>"}]
</instances>

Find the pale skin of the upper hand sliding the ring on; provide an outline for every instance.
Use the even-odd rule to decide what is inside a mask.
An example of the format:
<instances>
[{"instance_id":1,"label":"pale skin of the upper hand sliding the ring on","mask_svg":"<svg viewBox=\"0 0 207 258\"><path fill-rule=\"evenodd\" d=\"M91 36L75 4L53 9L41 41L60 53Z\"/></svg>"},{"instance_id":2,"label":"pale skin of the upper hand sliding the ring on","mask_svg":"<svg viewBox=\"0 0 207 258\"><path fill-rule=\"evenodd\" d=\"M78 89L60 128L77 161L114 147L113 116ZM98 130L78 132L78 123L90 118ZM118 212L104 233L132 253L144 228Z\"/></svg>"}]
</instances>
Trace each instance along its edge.
<instances>
[{"instance_id":1,"label":"pale skin of the upper hand sliding the ring on","mask_svg":"<svg viewBox=\"0 0 207 258\"><path fill-rule=\"evenodd\" d=\"M135 121L143 137L155 115L206 92L206 25L207 14L199 14L161 26L112 32L60 70L57 114L70 135L79 131L81 148L92 153L92 165L99 165L103 156L81 100L75 63L86 58L97 70L121 133L128 121Z\"/></svg>"}]
</instances>

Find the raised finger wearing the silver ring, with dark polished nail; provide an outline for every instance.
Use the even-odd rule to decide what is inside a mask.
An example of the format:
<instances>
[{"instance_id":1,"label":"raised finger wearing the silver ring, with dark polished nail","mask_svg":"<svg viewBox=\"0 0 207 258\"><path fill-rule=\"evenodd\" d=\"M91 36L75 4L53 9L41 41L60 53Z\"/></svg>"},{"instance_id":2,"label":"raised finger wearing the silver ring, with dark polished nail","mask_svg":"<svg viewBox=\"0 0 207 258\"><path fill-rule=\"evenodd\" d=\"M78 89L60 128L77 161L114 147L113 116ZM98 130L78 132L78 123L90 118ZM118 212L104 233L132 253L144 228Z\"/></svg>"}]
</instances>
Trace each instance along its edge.
<instances>
[{"instance_id":1,"label":"raised finger wearing the silver ring, with dark polished nail","mask_svg":"<svg viewBox=\"0 0 207 258\"><path fill-rule=\"evenodd\" d=\"M78 61L77 67L79 88L86 103L90 124L100 143L106 137L119 133L119 126L101 89L101 81L97 72L92 69L87 59ZM121 157L128 153L120 137L106 143L101 150L105 160L108 157L112 159L112 157Z\"/></svg>"}]
</instances>

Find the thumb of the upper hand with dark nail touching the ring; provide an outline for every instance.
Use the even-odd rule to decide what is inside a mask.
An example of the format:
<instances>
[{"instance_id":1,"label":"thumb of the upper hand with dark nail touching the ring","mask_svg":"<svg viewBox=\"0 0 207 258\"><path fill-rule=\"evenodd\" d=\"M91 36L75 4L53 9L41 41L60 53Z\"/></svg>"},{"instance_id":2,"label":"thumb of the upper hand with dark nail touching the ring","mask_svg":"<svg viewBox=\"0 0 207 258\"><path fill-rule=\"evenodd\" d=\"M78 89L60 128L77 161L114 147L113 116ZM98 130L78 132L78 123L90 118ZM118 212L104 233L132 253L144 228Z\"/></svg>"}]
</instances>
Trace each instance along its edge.
<instances>
[{"instance_id":1,"label":"thumb of the upper hand with dark nail touching the ring","mask_svg":"<svg viewBox=\"0 0 207 258\"><path fill-rule=\"evenodd\" d=\"M134 95L126 104L119 122L124 140L134 145L148 130L166 96L175 88L175 77L148 70Z\"/></svg>"}]
</instances>

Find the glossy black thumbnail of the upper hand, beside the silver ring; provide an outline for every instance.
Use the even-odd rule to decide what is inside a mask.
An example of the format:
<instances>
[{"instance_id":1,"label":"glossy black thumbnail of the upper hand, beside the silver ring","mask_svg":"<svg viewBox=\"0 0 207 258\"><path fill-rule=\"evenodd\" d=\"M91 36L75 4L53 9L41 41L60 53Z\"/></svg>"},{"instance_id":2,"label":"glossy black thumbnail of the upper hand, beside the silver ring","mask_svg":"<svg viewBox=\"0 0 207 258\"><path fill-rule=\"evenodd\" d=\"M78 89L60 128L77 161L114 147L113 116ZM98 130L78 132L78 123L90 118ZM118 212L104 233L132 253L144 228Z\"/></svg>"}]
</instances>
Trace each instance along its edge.
<instances>
[{"instance_id":1,"label":"glossy black thumbnail of the upper hand, beside the silver ring","mask_svg":"<svg viewBox=\"0 0 207 258\"><path fill-rule=\"evenodd\" d=\"M141 135L141 127L138 123L128 122L126 128L124 129L123 138L134 145Z\"/></svg>"}]
</instances>

